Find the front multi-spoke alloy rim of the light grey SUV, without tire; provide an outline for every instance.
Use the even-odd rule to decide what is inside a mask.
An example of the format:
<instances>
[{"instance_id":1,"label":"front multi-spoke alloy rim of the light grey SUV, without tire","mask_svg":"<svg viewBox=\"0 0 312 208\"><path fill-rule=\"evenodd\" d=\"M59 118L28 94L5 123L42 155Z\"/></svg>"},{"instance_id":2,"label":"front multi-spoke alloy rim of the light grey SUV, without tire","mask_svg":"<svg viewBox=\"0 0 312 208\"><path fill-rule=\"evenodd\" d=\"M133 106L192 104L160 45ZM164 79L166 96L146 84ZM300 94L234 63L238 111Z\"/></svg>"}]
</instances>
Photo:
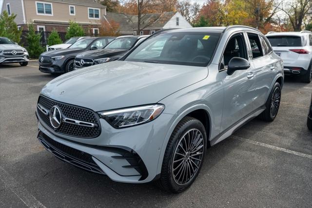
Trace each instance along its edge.
<instances>
[{"instance_id":1,"label":"front multi-spoke alloy rim of the light grey SUV, without tire","mask_svg":"<svg viewBox=\"0 0 312 208\"><path fill-rule=\"evenodd\" d=\"M204 152L204 137L191 129L179 140L172 164L173 178L178 185L189 183L196 175Z\"/></svg>"}]
</instances>

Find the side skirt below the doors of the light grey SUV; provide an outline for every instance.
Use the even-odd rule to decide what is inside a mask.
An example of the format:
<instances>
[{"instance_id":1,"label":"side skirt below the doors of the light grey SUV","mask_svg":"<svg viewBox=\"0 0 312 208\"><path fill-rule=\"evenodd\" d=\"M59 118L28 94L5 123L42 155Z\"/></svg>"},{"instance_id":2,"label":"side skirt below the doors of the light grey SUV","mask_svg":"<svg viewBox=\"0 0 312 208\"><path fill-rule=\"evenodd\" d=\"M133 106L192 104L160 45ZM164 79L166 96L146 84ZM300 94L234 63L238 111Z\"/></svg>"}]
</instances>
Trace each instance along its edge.
<instances>
[{"instance_id":1,"label":"side skirt below the doors of the light grey SUV","mask_svg":"<svg viewBox=\"0 0 312 208\"><path fill-rule=\"evenodd\" d=\"M265 106L255 110L254 112L246 115L245 117L243 117L242 119L240 119L239 121L237 121L236 123L234 123L232 126L230 126L229 128L227 128L226 130L224 130L223 132L219 133L218 135L215 136L215 138L213 138L210 141L210 145L213 146L217 143L219 143L220 141L228 138L229 136L231 136L237 129L239 129L240 127L244 126L246 123L248 123L248 121L252 120L254 117L258 116L260 113L262 113L265 110Z\"/></svg>"}]
</instances>

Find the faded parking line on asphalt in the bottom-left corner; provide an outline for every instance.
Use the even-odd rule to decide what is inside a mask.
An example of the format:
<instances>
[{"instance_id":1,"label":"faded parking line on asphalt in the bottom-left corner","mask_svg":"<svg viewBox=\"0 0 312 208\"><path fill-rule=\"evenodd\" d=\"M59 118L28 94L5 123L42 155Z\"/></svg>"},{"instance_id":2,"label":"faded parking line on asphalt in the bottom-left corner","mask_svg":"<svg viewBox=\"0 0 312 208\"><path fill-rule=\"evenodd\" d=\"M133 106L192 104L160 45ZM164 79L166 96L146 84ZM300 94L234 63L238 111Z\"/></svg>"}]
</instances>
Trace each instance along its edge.
<instances>
[{"instance_id":1,"label":"faded parking line on asphalt in the bottom-left corner","mask_svg":"<svg viewBox=\"0 0 312 208\"><path fill-rule=\"evenodd\" d=\"M33 195L0 166L0 179L6 189L10 189L29 208L45 208Z\"/></svg>"}]
</instances>

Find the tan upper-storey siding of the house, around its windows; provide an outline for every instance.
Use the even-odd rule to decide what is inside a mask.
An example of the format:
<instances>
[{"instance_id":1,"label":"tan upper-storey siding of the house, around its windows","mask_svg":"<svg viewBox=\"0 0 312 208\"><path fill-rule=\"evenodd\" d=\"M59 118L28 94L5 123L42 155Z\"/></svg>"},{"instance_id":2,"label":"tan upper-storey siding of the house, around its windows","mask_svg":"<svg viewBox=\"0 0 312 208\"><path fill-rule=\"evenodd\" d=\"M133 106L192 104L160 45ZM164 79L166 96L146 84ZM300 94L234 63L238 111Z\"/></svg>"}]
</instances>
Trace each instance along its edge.
<instances>
[{"instance_id":1,"label":"tan upper-storey siding of the house, around its windows","mask_svg":"<svg viewBox=\"0 0 312 208\"><path fill-rule=\"evenodd\" d=\"M74 20L78 23L83 23L83 24L100 24L102 21L102 17L105 14L105 8L90 6L91 8L98 8L100 10L100 14L99 14L99 19L89 19L88 18L88 6L75 5L71 3L65 3L65 2L52 2L52 1L45 1L45 0L37 0L37 1L52 3L53 16L37 15L36 0L24 0L26 19L28 23L36 21L36 20L40 20L40 21L45 20L47 22L58 22L58 21L68 22L69 20ZM69 5L75 6L76 15L69 14Z\"/></svg>"}]
</instances>

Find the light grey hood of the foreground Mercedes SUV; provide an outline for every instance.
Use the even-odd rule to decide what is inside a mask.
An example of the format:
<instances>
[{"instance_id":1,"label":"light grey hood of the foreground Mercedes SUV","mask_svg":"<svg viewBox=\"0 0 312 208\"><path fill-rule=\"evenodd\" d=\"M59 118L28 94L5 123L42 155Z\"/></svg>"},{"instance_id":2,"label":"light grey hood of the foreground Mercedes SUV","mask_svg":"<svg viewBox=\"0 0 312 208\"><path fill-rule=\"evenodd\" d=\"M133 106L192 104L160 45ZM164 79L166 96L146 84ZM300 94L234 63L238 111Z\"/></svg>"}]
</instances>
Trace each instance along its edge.
<instances>
[{"instance_id":1,"label":"light grey hood of the foreground Mercedes SUV","mask_svg":"<svg viewBox=\"0 0 312 208\"><path fill-rule=\"evenodd\" d=\"M41 94L104 111L157 103L207 76L207 67L117 60L59 76Z\"/></svg>"}]
</instances>

